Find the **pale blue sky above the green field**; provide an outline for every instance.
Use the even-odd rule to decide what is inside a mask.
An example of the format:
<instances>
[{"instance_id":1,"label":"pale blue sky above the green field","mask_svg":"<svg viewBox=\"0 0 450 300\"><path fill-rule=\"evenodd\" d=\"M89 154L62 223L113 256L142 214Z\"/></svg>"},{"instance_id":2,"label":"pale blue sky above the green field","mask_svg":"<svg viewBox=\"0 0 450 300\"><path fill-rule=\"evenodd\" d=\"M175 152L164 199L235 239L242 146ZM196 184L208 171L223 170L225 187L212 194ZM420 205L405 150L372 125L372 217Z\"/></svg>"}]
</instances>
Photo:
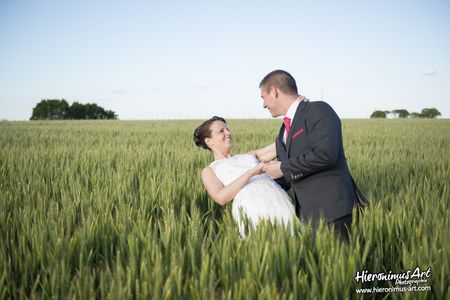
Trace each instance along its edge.
<instances>
[{"instance_id":1,"label":"pale blue sky above the green field","mask_svg":"<svg viewBox=\"0 0 450 300\"><path fill-rule=\"evenodd\" d=\"M62 98L120 119L270 118L274 69L341 118L449 118L450 1L0 0L0 119Z\"/></svg>"}]
</instances>

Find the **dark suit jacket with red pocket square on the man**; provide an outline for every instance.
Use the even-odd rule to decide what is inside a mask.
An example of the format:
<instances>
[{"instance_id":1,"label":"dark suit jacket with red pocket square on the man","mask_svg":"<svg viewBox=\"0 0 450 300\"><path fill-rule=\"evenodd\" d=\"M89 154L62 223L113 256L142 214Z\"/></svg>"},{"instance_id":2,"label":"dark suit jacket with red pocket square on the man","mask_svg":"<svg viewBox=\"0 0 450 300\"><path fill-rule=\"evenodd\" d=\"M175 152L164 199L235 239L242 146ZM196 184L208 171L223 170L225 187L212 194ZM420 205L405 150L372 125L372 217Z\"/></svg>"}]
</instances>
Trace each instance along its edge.
<instances>
[{"instance_id":1,"label":"dark suit jacket with red pocket square on the man","mask_svg":"<svg viewBox=\"0 0 450 300\"><path fill-rule=\"evenodd\" d=\"M332 222L352 212L355 192L342 145L341 121L327 103L300 102L286 145L276 139L284 180L295 191L296 214ZM280 182L280 181L279 181ZM281 182L280 182L281 183Z\"/></svg>"}]
</instances>

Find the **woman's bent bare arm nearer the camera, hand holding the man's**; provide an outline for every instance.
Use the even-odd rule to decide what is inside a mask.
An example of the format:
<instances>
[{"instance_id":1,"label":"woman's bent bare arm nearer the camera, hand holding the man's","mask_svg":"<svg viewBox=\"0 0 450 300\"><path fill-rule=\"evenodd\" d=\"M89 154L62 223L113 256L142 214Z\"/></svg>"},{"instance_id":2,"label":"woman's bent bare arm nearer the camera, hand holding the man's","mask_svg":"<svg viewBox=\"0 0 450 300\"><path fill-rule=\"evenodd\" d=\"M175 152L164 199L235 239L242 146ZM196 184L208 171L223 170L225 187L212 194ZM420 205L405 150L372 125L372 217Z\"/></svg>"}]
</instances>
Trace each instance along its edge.
<instances>
[{"instance_id":1,"label":"woman's bent bare arm nearer the camera, hand holding the man's","mask_svg":"<svg viewBox=\"0 0 450 300\"><path fill-rule=\"evenodd\" d=\"M211 167L206 167L202 171L203 185L214 202L225 205L234 199L236 194L247 184L250 178L261 173L265 166L265 163L258 164L227 186L223 186Z\"/></svg>"}]
</instances>

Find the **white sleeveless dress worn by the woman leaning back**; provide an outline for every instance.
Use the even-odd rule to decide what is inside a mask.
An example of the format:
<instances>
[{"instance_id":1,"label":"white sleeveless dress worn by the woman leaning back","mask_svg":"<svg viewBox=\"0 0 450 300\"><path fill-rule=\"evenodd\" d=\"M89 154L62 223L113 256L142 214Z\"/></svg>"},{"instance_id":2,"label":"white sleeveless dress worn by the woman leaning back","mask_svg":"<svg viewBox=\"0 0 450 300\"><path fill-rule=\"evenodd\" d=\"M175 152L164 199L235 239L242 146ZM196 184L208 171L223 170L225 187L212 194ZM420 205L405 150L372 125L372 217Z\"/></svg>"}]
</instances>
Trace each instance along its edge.
<instances>
[{"instance_id":1,"label":"white sleeveless dress worn by the woman leaning back","mask_svg":"<svg viewBox=\"0 0 450 300\"><path fill-rule=\"evenodd\" d=\"M227 186L258 164L259 161L254 155L238 154L216 160L210 167L222 184ZM234 197L232 215L238 223L240 235L245 237L244 216L240 214L241 209L254 228L260 219L292 225L295 218L295 209L288 194L267 174L250 178Z\"/></svg>"}]
</instances>

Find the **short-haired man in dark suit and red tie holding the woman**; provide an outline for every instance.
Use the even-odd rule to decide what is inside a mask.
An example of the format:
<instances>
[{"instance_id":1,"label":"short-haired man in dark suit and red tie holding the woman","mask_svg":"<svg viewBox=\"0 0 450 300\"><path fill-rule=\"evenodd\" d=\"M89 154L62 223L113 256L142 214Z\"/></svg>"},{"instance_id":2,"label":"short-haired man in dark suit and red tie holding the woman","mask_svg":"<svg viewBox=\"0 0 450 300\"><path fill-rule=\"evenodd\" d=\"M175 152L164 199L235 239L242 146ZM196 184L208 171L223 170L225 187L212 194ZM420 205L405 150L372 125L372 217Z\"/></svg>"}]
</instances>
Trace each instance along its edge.
<instances>
[{"instance_id":1,"label":"short-haired man in dark suit and red tie holding the woman","mask_svg":"<svg viewBox=\"0 0 450 300\"><path fill-rule=\"evenodd\" d=\"M295 211L314 227L320 217L347 238L355 191L342 144L341 122L325 102L299 96L295 79L275 70L259 84L264 108L283 116L276 139L277 161L266 173L285 180L295 191Z\"/></svg>"}]
</instances>

